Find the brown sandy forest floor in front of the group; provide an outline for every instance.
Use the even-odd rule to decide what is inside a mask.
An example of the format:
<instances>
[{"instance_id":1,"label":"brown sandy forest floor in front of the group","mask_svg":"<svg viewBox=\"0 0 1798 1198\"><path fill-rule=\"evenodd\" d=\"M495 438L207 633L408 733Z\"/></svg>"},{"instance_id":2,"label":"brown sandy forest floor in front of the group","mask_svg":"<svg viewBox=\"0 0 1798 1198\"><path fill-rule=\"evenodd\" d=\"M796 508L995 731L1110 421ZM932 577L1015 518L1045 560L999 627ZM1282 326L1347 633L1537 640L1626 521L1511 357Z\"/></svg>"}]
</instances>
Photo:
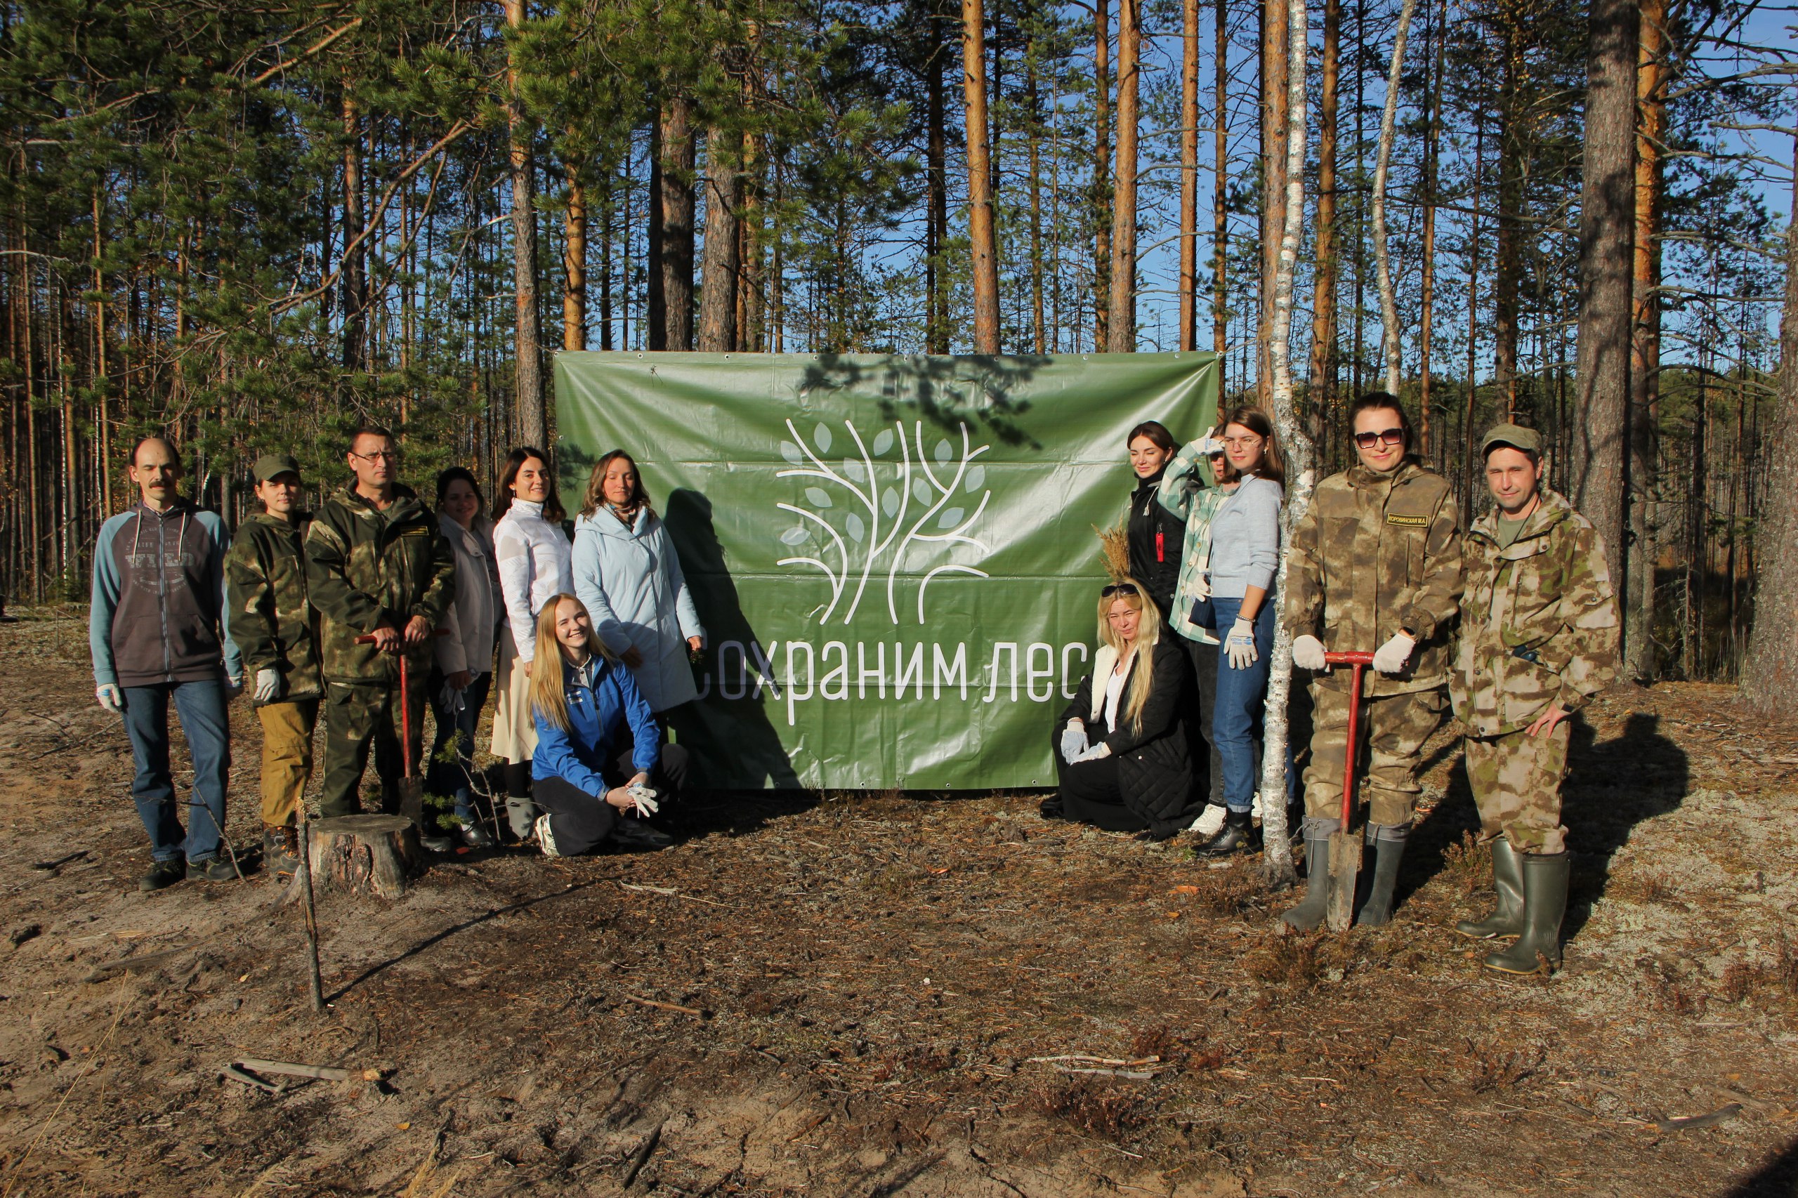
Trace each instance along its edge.
<instances>
[{"instance_id":1,"label":"brown sandy forest floor in front of the group","mask_svg":"<svg viewBox=\"0 0 1798 1198\"><path fill-rule=\"evenodd\" d=\"M5 1198L1798 1193L1798 730L1724 687L1593 709L1527 980L1449 928L1489 871L1447 732L1377 932L1034 797L703 795L667 853L327 903L322 1015L273 881L137 892L129 772L76 613L0 628Z\"/></svg>"}]
</instances>

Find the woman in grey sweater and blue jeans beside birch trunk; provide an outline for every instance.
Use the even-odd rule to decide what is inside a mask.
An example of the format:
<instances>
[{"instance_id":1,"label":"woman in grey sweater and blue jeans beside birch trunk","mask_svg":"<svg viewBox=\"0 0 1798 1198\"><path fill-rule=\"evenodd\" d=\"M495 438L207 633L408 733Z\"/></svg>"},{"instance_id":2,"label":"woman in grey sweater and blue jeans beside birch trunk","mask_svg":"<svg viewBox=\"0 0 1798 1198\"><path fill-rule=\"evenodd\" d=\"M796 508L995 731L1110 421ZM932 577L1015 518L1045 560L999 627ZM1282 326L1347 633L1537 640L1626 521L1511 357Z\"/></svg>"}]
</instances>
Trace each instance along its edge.
<instances>
[{"instance_id":1,"label":"woman in grey sweater and blue jeans beside birch trunk","mask_svg":"<svg viewBox=\"0 0 1798 1198\"><path fill-rule=\"evenodd\" d=\"M1223 633L1212 739L1224 764L1224 826L1199 849L1214 856L1260 847L1253 829L1257 747L1273 655L1273 576L1280 565L1286 498L1280 446L1260 408L1232 410L1223 443L1221 484L1232 493L1212 516L1210 588Z\"/></svg>"}]
</instances>

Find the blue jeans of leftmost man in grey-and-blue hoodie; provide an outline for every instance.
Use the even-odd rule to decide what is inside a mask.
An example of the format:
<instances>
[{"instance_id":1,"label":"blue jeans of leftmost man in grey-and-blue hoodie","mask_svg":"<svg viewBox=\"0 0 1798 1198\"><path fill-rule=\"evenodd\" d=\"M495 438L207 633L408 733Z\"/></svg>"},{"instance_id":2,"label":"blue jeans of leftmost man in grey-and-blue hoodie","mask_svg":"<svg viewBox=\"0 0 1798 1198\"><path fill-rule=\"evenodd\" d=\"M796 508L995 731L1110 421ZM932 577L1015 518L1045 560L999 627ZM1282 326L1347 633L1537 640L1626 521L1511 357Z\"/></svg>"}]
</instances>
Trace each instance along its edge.
<instances>
[{"instance_id":1,"label":"blue jeans of leftmost man in grey-and-blue hoodie","mask_svg":"<svg viewBox=\"0 0 1798 1198\"><path fill-rule=\"evenodd\" d=\"M169 772L169 698L187 734L194 761L194 788L187 797L187 831L174 802ZM131 738L131 800L149 833L149 851L158 862L183 853L189 862L218 856L225 833L225 788L230 775L230 721L225 716L225 682L164 682L124 687L124 732Z\"/></svg>"}]
</instances>

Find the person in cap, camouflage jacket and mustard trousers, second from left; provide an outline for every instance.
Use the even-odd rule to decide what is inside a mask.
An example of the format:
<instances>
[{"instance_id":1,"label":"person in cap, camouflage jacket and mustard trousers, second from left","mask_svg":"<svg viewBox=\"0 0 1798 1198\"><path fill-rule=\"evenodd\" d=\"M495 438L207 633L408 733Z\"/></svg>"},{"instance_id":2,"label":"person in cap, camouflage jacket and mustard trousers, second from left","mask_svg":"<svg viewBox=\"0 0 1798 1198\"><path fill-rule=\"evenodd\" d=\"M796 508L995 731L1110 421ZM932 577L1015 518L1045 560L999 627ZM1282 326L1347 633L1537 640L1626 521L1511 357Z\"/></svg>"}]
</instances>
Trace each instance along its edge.
<instances>
[{"instance_id":1,"label":"person in cap, camouflage jacket and mustard trousers, second from left","mask_svg":"<svg viewBox=\"0 0 1798 1198\"><path fill-rule=\"evenodd\" d=\"M263 723L263 867L291 874L300 865L295 813L313 777L318 723L318 630L306 599L306 527L300 466L286 453L255 459L263 511L237 525L225 554L232 640L254 682L250 702Z\"/></svg>"}]
</instances>

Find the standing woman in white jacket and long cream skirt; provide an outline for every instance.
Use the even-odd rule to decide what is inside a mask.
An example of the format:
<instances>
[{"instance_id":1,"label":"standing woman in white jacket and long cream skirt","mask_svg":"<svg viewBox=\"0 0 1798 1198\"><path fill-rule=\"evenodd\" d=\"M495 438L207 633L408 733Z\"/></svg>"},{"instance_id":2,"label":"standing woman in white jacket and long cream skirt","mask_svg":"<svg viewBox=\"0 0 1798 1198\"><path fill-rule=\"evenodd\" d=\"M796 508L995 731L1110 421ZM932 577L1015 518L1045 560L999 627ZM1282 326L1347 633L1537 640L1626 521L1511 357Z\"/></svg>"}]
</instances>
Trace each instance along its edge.
<instances>
[{"instance_id":1,"label":"standing woman in white jacket and long cream skirt","mask_svg":"<svg viewBox=\"0 0 1798 1198\"><path fill-rule=\"evenodd\" d=\"M538 612L552 595L574 590L574 579L548 453L532 446L512 450L498 491L493 549L500 563L500 590L505 594L505 622L500 628L500 702L493 714L493 755L505 761L507 822L512 835L525 840L536 822L530 755L538 747L538 730L530 716L530 658L538 644Z\"/></svg>"}]
</instances>

